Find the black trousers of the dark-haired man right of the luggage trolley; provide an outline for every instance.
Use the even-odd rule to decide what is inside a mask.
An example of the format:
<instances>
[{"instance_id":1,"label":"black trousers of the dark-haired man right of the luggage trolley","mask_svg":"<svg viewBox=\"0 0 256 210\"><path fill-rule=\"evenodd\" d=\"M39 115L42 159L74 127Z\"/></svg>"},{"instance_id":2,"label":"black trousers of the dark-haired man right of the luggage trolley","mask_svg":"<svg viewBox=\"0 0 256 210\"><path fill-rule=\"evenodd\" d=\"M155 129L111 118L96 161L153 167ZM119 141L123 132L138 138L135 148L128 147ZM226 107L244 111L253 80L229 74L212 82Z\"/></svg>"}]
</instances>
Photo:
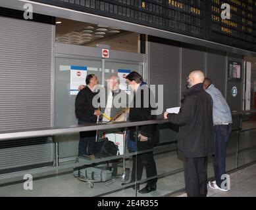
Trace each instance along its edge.
<instances>
[{"instance_id":1,"label":"black trousers of the dark-haired man right of the luggage trolley","mask_svg":"<svg viewBox=\"0 0 256 210\"><path fill-rule=\"evenodd\" d=\"M138 151L142 152L143 150L153 149L153 142L137 142L137 146L138 146ZM134 182L136 180L136 172L137 172L137 180L141 180L144 167L145 167L147 179L157 175L157 167L155 165L153 152L138 154L137 158L136 156L132 157L131 182ZM155 186L156 183L157 183L157 178L147 180L147 186Z\"/></svg>"}]
</instances>

